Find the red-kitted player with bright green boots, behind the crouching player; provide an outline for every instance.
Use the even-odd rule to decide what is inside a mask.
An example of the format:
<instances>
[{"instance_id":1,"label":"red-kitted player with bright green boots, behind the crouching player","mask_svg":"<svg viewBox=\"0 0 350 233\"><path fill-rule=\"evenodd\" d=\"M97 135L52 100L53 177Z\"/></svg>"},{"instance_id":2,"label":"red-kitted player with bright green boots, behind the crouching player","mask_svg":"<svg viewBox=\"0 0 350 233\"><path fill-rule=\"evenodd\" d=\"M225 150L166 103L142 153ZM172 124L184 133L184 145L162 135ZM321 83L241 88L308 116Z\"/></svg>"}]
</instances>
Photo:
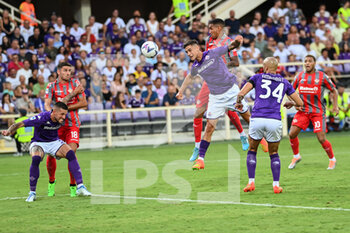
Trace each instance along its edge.
<instances>
[{"instance_id":1,"label":"red-kitted player with bright green boots, behind the crouching player","mask_svg":"<svg viewBox=\"0 0 350 233\"><path fill-rule=\"evenodd\" d=\"M60 63L57 66L58 79L55 82L49 83L46 88L45 110L51 110L51 103L61 101L64 97L72 93L79 85L78 80L72 80L72 65L66 62ZM76 153L79 147L79 115L78 110L87 106L84 92L73 97L68 103L68 115L64 121L64 125L58 130L58 136L66 142ZM46 160L47 172L49 173L48 196L55 195L56 184L56 160L48 156ZM68 169L69 171L69 169ZM76 196L76 182L72 173L70 174L70 195Z\"/></svg>"}]
</instances>

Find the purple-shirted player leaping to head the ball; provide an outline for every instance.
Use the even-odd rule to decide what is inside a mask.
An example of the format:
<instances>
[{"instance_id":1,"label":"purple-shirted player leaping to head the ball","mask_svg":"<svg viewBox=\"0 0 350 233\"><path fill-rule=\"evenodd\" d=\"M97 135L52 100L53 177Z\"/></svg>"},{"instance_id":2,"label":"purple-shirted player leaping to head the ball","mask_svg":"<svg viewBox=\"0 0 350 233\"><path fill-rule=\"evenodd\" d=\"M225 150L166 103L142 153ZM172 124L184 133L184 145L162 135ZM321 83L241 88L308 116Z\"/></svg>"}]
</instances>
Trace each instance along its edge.
<instances>
[{"instance_id":1,"label":"purple-shirted player leaping to head the ball","mask_svg":"<svg viewBox=\"0 0 350 233\"><path fill-rule=\"evenodd\" d=\"M177 98L183 98L183 92L195 76L201 76L208 84L210 91L207 109L207 126L203 139L199 145L199 158L196 160L193 170L204 169L205 153L210 145L211 136L215 130L218 119L225 114L225 111L236 110L234 107L236 96L239 92L236 77L230 73L221 56L232 51L240 45L241 41L235 39L229 46L221 46L209 51L202 52L196 40L189 40L184 48L187 55L194 61L191 73L187 75L183 82ZM240 114L249 122L248 105L243 101L244 107ZM236 110L237 111L237 110Z\"/></svg>"}]
</instances>

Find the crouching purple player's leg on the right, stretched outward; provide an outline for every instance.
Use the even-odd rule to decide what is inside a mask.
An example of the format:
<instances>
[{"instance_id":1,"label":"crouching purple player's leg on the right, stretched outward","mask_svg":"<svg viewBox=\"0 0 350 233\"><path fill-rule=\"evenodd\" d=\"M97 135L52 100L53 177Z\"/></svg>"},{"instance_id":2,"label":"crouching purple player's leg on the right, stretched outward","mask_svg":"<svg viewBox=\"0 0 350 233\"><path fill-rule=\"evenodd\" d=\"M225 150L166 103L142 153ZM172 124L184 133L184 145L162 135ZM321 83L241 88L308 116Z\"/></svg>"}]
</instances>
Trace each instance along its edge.
<instances>
[{"instance_id":1,"label":"crouching purple player's leg on the right, stretched outward","mask_svg":"<svg viewBox=\"0 0 350 233\"><path fill-rule=\"evenodd\" d=\"M66 158L68 160L68 168L77 182L77 195L90 196L91 193L87 191L86 187L83 184L81 169L72 148L70 148L70 146L67 144L63 144L56 152L56 156L60 158Z\"/></svg>"}]
</instances>

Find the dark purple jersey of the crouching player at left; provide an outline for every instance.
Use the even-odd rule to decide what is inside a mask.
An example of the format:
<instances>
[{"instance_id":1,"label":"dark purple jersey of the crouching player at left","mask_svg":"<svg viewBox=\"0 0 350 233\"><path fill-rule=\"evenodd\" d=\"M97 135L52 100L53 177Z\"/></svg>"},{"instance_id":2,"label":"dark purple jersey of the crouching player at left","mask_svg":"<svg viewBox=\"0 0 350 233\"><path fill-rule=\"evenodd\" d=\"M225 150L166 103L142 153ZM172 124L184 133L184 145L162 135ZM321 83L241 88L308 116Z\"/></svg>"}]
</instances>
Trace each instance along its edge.
<instances>
[{"instance_id":1,"label":"dark purple jersey of the crouching player at left","mask_svg":"<svg viewBox=\"0 0 350 233\"><path fill-rule=\"evenodd\" d=\"M42 112L23 121L25 127L34 127L32 142L53 142L58 140L61 124L51 120L51 112Z\"/></svg>"}]
</instances>

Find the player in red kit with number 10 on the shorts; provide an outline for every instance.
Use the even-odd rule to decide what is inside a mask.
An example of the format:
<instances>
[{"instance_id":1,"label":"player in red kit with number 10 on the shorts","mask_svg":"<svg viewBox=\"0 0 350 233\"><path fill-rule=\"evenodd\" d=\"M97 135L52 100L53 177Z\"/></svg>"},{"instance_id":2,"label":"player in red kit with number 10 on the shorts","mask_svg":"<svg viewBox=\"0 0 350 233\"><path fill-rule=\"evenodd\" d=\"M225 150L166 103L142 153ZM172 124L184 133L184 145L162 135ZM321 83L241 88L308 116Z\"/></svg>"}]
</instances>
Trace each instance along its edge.
<instances>
[{"instance_id":1,"label":"player in red kit with number 10 on the shorts","mask_svg":"<svg viewBox=\"0 0 350 233\"><path fill-rule=\"evenodd\" d=\"M301 161L298 134L302 129L305 130L311 121L314 126L314 133L316 133L318 141L329 157L327 169L332 170L335 168L336 159L334 157L332 144L326 139L327 126L323 93L325 88L333 93L333 112L338 114L338 91L324 72L316 71L316 58L314 56L307 55L304 59L304 66L306 72L299 73L293 81L293 87L298 89L305 107L299 109L295 114L292 127L289 131L289 140L294 157L288 168L295 168L296 164ZM292 106L294 106L293 102L287 103L288 108Z\"/></svg>"}]
</instances>

